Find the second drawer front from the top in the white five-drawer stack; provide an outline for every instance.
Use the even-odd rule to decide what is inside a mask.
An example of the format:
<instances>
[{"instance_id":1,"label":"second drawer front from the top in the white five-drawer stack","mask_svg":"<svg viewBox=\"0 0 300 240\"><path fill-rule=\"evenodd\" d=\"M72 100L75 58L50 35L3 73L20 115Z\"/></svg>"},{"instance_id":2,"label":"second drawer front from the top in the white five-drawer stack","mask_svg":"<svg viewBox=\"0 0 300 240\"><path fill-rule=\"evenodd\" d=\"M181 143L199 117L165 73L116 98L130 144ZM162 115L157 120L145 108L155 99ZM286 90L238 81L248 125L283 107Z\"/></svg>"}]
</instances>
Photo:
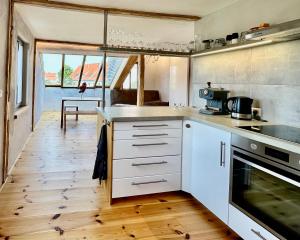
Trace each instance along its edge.
<instances>
[{"instance_id":1,"label":"second drawer front from the top in the white five-drawer stack","mask_svg":"<svg viewBox=\"0 0 300 240\"><path fill-rule=\"evenodd\" d=\"M180 128L175 129L147 129L114 131L114 140L142 139L142 138L181 138Z\"/></svg>"}]
</instances>

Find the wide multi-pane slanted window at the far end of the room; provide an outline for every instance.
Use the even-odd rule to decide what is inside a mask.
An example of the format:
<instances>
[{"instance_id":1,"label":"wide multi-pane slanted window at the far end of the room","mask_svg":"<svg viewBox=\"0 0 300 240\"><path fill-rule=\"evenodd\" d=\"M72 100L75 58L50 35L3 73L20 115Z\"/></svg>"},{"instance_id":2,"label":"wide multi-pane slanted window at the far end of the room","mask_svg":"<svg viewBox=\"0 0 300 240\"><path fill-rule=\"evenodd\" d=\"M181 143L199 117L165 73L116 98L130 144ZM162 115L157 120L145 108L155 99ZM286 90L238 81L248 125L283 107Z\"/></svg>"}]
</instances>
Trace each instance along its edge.
<instances>
[{"instance_id":1,"label":"wide multi-pane slanted window at the far end of the room","mask_svg":"<svg viewBox=\"0 0 300 240\"><path fill-rule=\"evenodd\" d=\"M42 55L46 87L78 88L83 82L87 83L88 88L102 87L103 57L101 55L64 53ZM110 87L126 60L127 57L107 57L106 87Z\"/></svg>"}]
</instances>

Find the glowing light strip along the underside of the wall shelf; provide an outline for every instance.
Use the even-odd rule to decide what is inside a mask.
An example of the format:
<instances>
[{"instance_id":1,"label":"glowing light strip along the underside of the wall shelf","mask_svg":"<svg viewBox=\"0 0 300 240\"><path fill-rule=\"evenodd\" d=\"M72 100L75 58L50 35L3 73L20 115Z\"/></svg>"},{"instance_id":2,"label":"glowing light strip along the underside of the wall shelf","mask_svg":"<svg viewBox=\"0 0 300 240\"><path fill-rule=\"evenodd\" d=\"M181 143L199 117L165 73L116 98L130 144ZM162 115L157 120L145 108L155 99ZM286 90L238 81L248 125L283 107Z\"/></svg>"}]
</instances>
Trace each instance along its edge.
<instances>
[{"instance_id":1,"label":"glowing light strip along the underside of the wall shelf","mask_svg":"<svg viewBox=\"0 0 300 240\"><path fill-rule=\"evenodd\" d=\"M231 44L227 45L224 47L216 47L216 48L211 48L211 49L206 49L202 50L199 52L194 52L191 54L191 57L201 57L201 56L207 56L207 55L213 55L213 54L218 54L218 53L224 53L224 52L232 52L240 49L247 49L247 48L252 48L252 47L258 47L258 46L263 46L267 44L273 43L271 40L266 40L266 41L254 41L254 40L249 40L245 41L242 43L236 43L236 44Z\"/></svg>"}]
</instances>

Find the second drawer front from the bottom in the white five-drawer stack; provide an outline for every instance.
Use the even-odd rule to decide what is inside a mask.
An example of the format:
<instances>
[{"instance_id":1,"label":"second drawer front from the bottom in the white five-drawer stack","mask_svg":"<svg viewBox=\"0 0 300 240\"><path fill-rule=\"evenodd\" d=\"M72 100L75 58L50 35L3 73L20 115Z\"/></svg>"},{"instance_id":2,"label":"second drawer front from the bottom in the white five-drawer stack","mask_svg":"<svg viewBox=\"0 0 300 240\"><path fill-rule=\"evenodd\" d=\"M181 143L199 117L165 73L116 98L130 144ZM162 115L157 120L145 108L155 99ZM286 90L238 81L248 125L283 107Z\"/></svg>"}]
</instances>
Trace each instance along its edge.
<instances>
[{"instance_id":1,"label":"second drawer front from the bottom in the white five-drawer stack","mask_svg":"<svg viewBox=\"0 0 300 240\"><path fill-rule=\"evenodd\" d=\"M181 172L181 156L121 159L113 161L113 178L129 178Z\"/></svg>"}]
</instances>

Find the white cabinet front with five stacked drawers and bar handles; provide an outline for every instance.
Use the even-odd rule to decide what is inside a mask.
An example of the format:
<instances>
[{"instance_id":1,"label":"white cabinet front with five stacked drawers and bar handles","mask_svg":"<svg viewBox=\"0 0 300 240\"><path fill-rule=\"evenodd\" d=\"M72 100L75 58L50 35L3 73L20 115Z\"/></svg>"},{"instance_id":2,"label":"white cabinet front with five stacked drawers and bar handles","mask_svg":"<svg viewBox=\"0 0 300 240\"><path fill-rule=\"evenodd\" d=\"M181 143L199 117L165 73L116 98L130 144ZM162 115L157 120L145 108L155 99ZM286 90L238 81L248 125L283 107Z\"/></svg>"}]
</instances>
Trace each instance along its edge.
<instances>
[{"instance_id":1,"label":"white cabinet front with five stacked drawers and bar handles","mask_svg":"<svg viewBox=\"0 0 300 240\"><path fill-rule=\"evenodd\" d=\"M181 189L182 121L115 122L112 198Z\"/></svg>"}]
</instances>

